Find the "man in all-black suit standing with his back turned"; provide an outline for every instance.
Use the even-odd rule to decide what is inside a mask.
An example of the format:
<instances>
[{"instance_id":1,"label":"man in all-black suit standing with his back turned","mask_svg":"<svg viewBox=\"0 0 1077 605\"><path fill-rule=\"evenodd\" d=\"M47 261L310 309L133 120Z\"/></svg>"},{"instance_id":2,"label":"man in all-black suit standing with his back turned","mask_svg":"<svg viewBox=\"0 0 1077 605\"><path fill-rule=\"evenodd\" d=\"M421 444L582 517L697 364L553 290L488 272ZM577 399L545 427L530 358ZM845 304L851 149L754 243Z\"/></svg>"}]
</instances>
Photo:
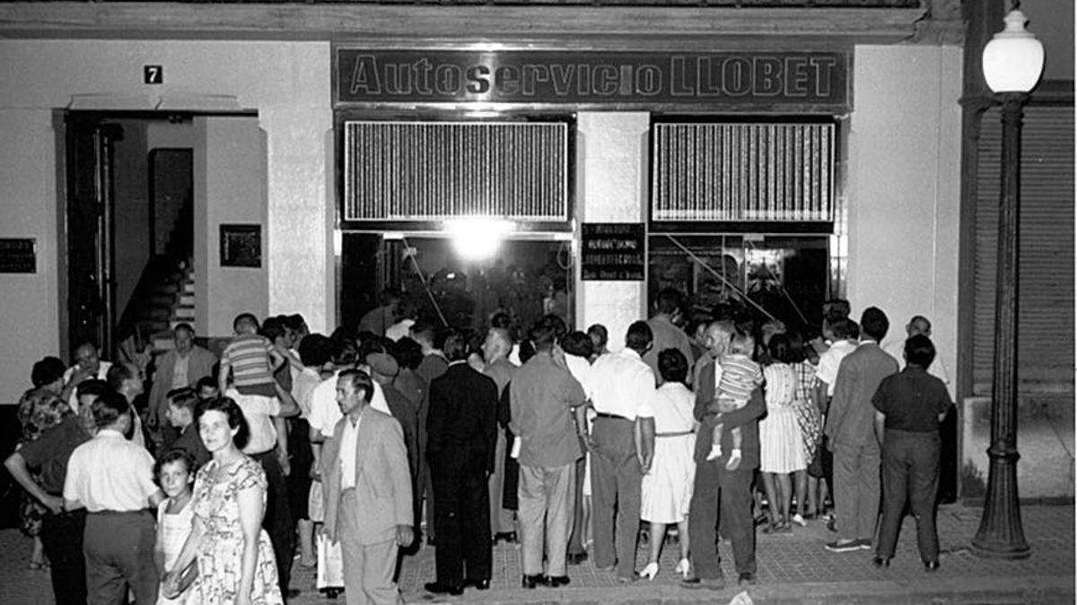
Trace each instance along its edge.
<instances>
[{"instance_id":1,"label":"man in all-black suit standing with his back turned","mask_svg":"<svg viewBox=\"0 0 1077 605\"><path fill-rule=\"evenodd\" d=\"M445 339L449 367L430 383L426 460L434 488L437 581L433 593L490 587L492 553L487 478L498 435L498 385L467 364L460 334Z\"/></svg>"}]
</instances>

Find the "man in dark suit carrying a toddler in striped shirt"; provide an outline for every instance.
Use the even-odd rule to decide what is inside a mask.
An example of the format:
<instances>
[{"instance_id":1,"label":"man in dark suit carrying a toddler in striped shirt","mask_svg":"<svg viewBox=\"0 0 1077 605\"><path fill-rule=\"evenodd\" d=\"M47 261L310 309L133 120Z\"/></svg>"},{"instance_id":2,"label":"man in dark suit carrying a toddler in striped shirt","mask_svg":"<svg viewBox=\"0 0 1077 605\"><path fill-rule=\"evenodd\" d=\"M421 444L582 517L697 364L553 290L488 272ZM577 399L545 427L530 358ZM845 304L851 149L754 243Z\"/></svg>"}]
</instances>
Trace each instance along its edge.
<instances>
[{"instance_id":1,"label":"man in dark suit carrying a toddler in striped shirt","mask_svg":"<svg viewBox=\"0 0 1077 605\"><path fill-rule=\"evenodd\" d=\"M696 386L696 419L702 424L699 435L710 435L714 425L726 426L722 435L722 451L732 451L731 427L741 430L741 463L736 470L726 468L728 453L707 460L711 450L710 439L696 439L696 478L688 512L688 536L693 544L691 568L695 576L684 580L685 586L725 588L722 578L721 557L714 535L718 503L721 502L723 533L733 546L733 562L738 583L755 583L755 525L752 522L752 476L759 466L758 419L766 412L763 392L756 389L747 404L730 412L717 414L715 385L721 377L718 360L725 353L735 332L731 322L719 321L707 328L707 346L711 358L703 357ZM703 361L708 360L708 361Z\"/></svg>"}]
</instances>

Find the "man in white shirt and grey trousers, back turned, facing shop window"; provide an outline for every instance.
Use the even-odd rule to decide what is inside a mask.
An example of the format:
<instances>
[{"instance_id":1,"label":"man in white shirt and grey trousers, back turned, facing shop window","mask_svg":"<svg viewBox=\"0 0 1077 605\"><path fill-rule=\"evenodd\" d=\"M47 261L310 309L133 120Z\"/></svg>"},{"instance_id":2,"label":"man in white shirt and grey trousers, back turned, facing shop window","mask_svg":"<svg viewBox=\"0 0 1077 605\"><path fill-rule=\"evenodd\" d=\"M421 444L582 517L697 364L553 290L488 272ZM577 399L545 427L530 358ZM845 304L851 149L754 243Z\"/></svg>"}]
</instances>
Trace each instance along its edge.
<instances>
[{"instance_id":1,"label":"man in white shirt and grey trousers, back turned, facing shop window","mask_svg":"<svg viewBox=\"0 0 1077 605\"><path fill-rule=\"evenodd\" d=\"M591 458L595 565L613 568L616 564L617 579L623 582L635 577L640 487L643 475L651 470L655 451L656 382L642 358L653 338L646 322L634 322L628 327L623 351L596 360L587 385L597 414L587 439L588 449L595 454Z\"/></svg>"}]
</instances>

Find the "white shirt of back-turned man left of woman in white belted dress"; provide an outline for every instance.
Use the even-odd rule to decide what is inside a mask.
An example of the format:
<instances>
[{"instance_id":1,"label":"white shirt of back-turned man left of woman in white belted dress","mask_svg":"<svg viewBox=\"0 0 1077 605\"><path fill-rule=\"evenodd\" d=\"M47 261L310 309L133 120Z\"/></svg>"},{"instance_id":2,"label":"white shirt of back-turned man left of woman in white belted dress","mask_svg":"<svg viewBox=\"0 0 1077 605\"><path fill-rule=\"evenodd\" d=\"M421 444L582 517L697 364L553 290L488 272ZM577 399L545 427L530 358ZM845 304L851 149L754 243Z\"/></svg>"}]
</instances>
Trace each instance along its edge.
<instances>
[{"instance_id":1,"label":"white shirt of back-turned man left of woman in white belted dress","mask_svg":"<svg viewBox=\"0 0 1077 605\"><path fill-rule=\"evenodd\" d=\"M628 420L654 418L655 372L635 351L625 348L595 361L587 379L587 395L595 411Z\"/></svg>"}]
</instances>

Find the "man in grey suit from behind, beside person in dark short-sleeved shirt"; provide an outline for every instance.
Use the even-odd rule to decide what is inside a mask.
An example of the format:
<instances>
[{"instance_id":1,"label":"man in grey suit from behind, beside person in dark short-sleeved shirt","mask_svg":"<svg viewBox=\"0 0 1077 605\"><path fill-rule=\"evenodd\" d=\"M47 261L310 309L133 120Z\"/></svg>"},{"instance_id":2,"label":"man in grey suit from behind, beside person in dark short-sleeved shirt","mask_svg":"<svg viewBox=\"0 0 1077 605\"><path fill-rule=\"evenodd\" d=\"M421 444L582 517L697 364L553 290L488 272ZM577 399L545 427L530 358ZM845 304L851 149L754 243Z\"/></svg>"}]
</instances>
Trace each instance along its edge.
<instances>
[{"instance_id":1,"label":"man in grey suit from behind, beside person in dark short-sleeved shirt","mask_svg":"<svg viewBox=\"0 0 1077 605\"><path fill-rule=\"evenodd\" d=\"M838 368L834 397L823 427L834 452L834 506L838 539L827 550L871 549L879 517L879 439L875 434L871 397L897 362L879 347L890 321L876 307L861 315L861 344Z\"/></svg>"}]
</instances>

